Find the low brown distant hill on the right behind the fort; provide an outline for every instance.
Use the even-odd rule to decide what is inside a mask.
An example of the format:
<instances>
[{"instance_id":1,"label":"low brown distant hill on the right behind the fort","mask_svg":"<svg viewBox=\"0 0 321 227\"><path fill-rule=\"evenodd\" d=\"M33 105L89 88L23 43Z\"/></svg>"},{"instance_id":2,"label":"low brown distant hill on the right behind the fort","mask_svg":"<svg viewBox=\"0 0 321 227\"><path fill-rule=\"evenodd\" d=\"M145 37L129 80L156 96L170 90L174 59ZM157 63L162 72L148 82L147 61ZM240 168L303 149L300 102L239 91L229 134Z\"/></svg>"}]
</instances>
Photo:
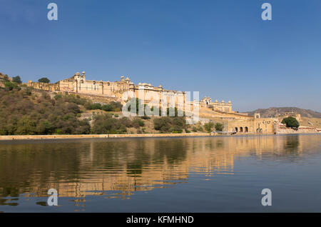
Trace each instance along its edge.
<instances>
[{"instance_id":1,"label":"low brown distant hill on the right behind the fort","mask_svg":"<svg viewBox=\"0 0 321 227\"><path fill-rule=\"evenodd\" d=\"M246 112L250 116L254 116L255 113L259 113L261 117L277 117L280 115L285 115L289 112L295 114L301 114L307 118L321 118L321 113L317 111L312 111L310 109L300 109L297 107L271 107L269 109L256 109L255 111Z\"/></svg>"}]
</instances>

